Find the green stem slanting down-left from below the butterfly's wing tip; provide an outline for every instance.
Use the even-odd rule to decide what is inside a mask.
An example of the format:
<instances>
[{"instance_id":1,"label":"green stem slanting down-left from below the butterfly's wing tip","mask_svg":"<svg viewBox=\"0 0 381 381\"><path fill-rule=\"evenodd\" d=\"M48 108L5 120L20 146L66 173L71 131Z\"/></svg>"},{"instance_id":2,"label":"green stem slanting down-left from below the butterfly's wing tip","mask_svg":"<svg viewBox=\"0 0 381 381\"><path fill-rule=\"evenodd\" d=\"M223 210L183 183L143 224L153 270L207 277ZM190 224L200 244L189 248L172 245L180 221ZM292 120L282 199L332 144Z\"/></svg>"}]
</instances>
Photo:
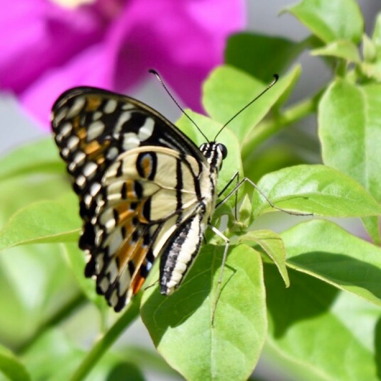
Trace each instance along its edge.
<instances>
[{"instance_id":1,"label":"green stem slanting down-left from below the butterfly's wing tip","mask_svg":"<svg viewBox=\"0 0 381 381\"><path fill-rule=\"evenodd\" d=\"M142 292L138 293L129 308L114 323L114 325L102 336L86 354L81 364L74 372L70 381L81 381L89 374L93 367L99 362L106 350L118 339L126 327L138 316Z\"/></svg>"}]
</instances>

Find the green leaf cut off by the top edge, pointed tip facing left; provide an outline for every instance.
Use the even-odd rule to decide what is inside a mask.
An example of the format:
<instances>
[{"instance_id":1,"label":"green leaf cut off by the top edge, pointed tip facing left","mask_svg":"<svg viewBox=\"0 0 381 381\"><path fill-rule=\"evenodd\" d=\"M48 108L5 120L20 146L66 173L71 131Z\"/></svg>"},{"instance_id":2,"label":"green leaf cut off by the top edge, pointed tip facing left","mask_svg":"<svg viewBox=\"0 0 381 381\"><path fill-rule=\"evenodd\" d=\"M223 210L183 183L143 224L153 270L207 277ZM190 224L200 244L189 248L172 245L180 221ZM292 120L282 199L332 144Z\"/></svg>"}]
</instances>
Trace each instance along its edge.
<instances>
[{"instance_id":1,"label":"green leaf cut off by the top edge, pointed tip facing left","mask_svg":"<svg viewBox=\"0 0 381 381\"><path fill-rule=\"evenodd\" d=\"M361 41L364 19L354 0L302 0L287 10L325 43Z\"/></svg>"}]
</instances>

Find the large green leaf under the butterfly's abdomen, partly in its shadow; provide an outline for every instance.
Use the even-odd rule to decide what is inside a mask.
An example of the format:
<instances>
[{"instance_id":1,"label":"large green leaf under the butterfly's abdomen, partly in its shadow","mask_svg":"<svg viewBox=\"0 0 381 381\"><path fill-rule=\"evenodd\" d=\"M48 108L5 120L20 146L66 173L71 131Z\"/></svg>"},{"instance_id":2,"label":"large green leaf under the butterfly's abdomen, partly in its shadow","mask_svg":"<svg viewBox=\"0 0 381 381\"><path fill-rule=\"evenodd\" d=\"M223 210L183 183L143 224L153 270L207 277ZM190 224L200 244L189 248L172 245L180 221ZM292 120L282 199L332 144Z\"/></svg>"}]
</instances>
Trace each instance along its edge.
<instances>
[{"instance_id":1,"label":"large green leaf under the butterfly's abdomen, partly in its shadow","mask_svg":"<svg viewBox=\"0 0 381 381\"><path fill-rule=\"evenodd\" d=\"M217 300L222 253L222 247L203 247L173 295L151 287L143 296L141 317L155 346L187 380L246 380L265 339L260 255L246 245L230 249Z\"/></svg>"}]
</instances>

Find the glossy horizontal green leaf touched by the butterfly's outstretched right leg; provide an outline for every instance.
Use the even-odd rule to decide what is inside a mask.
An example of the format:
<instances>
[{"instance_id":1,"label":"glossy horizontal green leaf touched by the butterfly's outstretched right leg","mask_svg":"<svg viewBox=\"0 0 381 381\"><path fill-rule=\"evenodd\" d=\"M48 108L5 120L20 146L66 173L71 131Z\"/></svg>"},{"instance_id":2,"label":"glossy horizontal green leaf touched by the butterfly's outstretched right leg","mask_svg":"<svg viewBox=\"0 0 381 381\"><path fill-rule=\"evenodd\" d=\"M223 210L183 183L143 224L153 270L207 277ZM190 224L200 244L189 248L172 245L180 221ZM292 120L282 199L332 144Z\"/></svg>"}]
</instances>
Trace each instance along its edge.
<instances>
[{"instance_id":1,"label":"glossy horizontal green leaf touched by the butterfly's outstretched right leg","mask_svg":"<svg viewBox=\"0 0 381 381\"><path fill-rule=\"evenodd\" d=\"M360 184L323 165L298 165L267 174L258 188L276 206L327 217L379 215L381 206ZM274 210L258 191L253 195L253 214Z\"/></svg>"}]
</instances>

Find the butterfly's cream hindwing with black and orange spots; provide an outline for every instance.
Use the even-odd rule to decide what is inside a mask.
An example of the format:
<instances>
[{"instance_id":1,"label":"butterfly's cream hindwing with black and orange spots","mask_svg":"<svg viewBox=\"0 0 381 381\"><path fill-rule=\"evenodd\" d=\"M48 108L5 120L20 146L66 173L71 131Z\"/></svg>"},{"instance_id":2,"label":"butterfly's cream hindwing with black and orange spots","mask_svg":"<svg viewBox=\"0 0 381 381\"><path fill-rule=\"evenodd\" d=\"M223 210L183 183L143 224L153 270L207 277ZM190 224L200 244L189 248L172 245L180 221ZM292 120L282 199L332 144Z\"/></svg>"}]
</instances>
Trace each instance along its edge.
<instances>
[{"instance_id":1,"label":"butterfly's cream hindwing with black and orange spots","mask_svg":"<svg viewBox=\"0 0 381 381\"><path fill-rule=\"evenodd\" d=\"M182 165L182 174L195 181L197 173L184 164L189 160L195 165L194 159L180 159L162 147L151 149L131 149L109 167L102 179L102 198L97 200L105 206L84 226L80 240L81 248L91 253L86 275L96 276L98 291L114 308L136 294L164 244L198 206L195 191L184 191L182 182L164 171Z\"/></svg>"}]
</instances>

